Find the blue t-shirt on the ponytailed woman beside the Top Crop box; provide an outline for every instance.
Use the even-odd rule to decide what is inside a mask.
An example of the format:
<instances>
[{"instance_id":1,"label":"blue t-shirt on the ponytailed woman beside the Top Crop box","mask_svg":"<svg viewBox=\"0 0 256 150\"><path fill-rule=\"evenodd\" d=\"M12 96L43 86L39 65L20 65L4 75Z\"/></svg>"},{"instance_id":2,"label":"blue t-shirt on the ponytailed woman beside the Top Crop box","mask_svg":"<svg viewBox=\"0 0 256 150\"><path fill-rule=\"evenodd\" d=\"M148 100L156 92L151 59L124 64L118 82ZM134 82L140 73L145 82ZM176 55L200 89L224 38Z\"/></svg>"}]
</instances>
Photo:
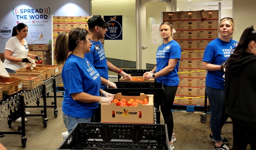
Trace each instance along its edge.
<instances>
[{"instance_id":1,"label":"blue t-shirt on the ponytailed woman beside the Top Crop box","mask_svg":"<svg viewBox=\"0 0 256 150\"><path fill-rule=\"evenodd\" d=\"M99 104L73 100L70 94L85 92L99 96L101 80L98 71L85 58L70 54L63 66L61 77L65 89L62 112L77 118L92 117Z\"/></svg>"}]
</instances>

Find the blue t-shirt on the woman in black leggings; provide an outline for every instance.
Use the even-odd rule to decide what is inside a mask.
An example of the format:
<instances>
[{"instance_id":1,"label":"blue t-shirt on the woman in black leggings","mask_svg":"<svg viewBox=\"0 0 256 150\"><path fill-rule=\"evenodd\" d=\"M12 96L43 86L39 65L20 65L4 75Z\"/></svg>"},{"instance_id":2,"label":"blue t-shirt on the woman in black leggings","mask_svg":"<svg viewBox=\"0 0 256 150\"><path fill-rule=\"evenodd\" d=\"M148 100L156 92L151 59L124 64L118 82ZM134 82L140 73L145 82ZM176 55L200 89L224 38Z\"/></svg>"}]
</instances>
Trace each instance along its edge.
<instances>
[{"instance_id":1,"label":"blue t-shirt on the woman in black leggings","mask_svg":"<svg viewBox=\"0 0 256 150\"><path fill-rule=\"evenodd\" d=\"M181 59L181 47L175 41L171 40L167 44L162 44L157 49L157 68L156 72L162 70L166 66L168 66L169 59ZM174 67L173 71L170 73L160 76L156 78L157 82L162 82L163 85L168 86L177 86L179 84L179 76L178 76L178 69L179 69L179 61Z\"/></svg>"}]
</instances>

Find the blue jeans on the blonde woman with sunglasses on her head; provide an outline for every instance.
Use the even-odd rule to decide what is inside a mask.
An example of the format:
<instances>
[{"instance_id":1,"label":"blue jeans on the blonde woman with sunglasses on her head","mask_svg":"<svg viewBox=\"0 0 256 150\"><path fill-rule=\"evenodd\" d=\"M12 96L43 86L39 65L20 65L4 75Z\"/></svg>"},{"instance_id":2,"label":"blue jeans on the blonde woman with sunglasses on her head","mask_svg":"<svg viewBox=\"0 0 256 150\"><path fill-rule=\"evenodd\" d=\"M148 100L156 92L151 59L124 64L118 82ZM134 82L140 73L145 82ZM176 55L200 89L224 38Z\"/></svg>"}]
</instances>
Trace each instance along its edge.
<instances>
[{"instance_id":1,"label":"blue jeans on the blonde woman with sunglasses on her head","mask_svg":"<svg viewBox=\"0 0 256 150\"><path fill-rule=\"evenodd\" d=\"M228 115L225 114L225 90L205 86L206 94L211 107L210 127L213 141L221 142L221 128L226 123Z\"/></svg>"}]
</instances>

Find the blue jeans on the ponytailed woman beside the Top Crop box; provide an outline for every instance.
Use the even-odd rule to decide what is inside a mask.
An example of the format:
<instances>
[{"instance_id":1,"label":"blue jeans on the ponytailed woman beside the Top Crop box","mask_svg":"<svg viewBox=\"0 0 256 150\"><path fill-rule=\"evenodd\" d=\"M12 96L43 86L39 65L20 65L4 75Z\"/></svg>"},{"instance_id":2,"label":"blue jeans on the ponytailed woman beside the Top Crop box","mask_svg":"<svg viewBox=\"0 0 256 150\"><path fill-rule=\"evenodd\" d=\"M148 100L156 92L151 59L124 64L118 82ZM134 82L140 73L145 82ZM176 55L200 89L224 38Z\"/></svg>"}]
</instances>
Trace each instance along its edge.
<instances>
[{"instance_id":1,"label":"blue jeans on the ponytailed woman beside the Top Crop box","mask_svg":"<svg viewBox=\"0 0 256 150\"><path fill-rule=\"evenodd\" d=\"M63 122L65 127L67 128L67 132L70 133L73 128L75 128L76 123L89 123L91 122L90 118L76 118L69 115L66 115L65 113L62 114L63 116Z\"/></svg>"}]
</instances>

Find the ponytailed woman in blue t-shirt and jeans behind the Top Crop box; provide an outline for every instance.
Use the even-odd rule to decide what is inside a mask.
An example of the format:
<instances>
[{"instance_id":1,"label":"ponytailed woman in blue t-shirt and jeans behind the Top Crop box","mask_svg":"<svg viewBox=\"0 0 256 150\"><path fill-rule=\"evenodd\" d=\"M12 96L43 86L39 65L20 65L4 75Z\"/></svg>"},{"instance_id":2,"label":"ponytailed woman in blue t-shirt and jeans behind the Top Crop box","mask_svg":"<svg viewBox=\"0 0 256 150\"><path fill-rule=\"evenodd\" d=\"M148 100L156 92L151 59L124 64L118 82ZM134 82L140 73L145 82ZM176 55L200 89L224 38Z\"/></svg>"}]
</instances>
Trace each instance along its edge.
<instances>
[{"instance_id":1,"label":"ponytailed woman in blue t-shirt and jeans behind the Top Crop box","mask_svg":"<svg viewBox=\"0 0 256 150\"><path fill-rule=\"evenodd\" d=\"M61 77L65 89L62 112L67 132L62 133L63 139L76 123L90 122L99 104L110 104L114 98L113 94L100 89L99 73L84 57L90 52L90 39L84 28L61 32L56 39L56 61L58 64L65 62ZM71 54L68 56L69 51Z\"/></svg>"}]
</instances>

